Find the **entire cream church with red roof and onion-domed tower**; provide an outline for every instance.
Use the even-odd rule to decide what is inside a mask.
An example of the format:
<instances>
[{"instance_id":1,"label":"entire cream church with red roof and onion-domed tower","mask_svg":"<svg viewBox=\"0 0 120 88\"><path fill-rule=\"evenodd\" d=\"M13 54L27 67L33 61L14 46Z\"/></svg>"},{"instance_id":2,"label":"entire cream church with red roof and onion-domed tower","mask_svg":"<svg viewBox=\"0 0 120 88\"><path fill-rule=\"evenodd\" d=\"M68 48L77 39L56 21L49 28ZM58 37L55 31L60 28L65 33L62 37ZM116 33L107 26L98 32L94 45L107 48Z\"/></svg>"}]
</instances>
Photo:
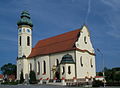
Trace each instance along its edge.
<instances>
[{"instance_id":1,"label":"entire cream church with red roof and onion-domed tower","mask_svg":"<svg viewBox=\"0 0 120 88\"><path fill-rule=\"evenodd\" d=\"M39 40L32 47L33 23L27 11L21 13L18 25L17 80L30 71L40 80L93 79L96 76L95 51L87 26L54 37Z\"/></svg>"}]
</instances>

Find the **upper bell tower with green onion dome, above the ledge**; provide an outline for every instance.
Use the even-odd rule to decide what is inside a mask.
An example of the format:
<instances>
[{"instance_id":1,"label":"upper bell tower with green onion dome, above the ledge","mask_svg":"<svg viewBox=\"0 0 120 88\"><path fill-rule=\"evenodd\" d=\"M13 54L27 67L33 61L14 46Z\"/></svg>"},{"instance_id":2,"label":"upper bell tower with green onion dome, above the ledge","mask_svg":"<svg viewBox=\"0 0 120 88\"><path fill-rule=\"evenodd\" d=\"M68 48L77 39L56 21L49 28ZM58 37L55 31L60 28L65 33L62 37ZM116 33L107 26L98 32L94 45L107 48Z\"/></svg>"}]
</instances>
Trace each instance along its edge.
<instances>
[{"instance_id":1,"label":"upper bell tower with green onion dome, above the ledge","mask_svg":"<svg viewBox=\"0 0 120 88\"><path fill-rule=\"evenodd\" d=\"M32 21L28 11L22 11L18 25L18 58L28 57L32 49Z\"/></svg>"}]
</instances>

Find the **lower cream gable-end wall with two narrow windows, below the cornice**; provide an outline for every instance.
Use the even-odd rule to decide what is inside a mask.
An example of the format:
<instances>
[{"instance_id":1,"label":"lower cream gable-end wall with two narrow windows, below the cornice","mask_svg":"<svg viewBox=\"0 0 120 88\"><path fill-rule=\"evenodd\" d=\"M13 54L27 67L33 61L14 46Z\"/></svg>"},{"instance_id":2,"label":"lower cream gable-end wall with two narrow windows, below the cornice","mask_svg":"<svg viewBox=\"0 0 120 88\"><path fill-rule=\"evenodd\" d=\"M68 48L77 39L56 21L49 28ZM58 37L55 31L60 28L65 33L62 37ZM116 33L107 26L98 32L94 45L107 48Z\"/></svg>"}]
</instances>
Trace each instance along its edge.
<instances>
[{"instance_id":1,"label":"lower cream gable-end wall with two narrow windows, below the cornice","mask_svg":"<svg viewBox=\"0 0 120 88\"><path fill-rule=\"evenodd\" d=\"M81 56L83 67L81 66L80 63ZM91 67L90 59L92 59L93 67ZM77 78L95 77L96 75L95 56L90 55L87 52L83 53L80 51L76 51L76 68Z\"/></svg>"}]
</instances>

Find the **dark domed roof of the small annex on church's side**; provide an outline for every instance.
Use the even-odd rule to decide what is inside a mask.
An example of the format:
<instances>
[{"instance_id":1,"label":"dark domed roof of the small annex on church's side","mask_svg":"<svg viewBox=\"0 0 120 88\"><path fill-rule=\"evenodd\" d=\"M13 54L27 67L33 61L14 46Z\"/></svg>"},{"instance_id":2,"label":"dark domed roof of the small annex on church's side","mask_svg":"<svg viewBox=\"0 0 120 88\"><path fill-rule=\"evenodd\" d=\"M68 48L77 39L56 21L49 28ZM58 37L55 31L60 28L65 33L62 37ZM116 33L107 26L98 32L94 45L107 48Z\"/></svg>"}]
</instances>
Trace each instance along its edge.
<instances>
[{"instance_id":1,"label":"dark domed roof of the small annex on church's side","mask_svg":"<svg viewBox=\"0 0 120 88\"><path fill-rule=\"evenodd\" d=\"M74 64L73 57L70 54L66 54L62 57L61 64Z\"/></svg>"}]
</instances>

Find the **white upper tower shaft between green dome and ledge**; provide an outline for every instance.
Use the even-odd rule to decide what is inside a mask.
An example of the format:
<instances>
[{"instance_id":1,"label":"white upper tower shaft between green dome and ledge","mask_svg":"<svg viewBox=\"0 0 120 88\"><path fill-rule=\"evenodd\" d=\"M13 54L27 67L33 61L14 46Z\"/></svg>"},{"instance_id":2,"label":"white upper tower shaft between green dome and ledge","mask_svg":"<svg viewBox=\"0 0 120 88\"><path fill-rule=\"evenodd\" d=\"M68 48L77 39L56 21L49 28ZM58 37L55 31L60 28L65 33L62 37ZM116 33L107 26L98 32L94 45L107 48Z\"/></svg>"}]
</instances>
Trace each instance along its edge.
<instances>
[{"instance_id":1,"label":"white upper tower shaft between green dome and ledge","mask_svg":"<svg viewBox=\"0 0 120 88\"><path fill-rule=\"evenodd\" d=\"M19 30L22 29L21 32ZM30 29L30 33L27 32L27 27L22 27L18 29L18 57L22 57L25 55L28 57L31 53L32 48L32 30ZM21 36L21 46L20 46L20 36ZM30 37L30 46L27 46L27 36Z\"/></svg>"}]
</instances>

